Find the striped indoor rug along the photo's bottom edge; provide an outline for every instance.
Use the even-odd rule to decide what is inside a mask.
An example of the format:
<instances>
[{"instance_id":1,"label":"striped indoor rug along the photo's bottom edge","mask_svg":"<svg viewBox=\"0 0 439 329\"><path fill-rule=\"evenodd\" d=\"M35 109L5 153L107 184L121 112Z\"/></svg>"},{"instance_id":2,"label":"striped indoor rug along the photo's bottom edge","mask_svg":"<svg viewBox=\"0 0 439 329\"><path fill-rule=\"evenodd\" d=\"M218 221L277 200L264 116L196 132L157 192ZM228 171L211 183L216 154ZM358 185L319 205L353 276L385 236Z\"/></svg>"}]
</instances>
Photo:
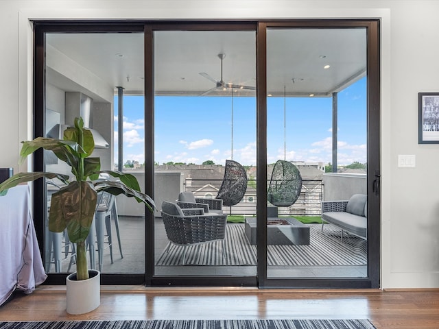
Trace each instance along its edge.
<instances>
[{"instance_id":1,"label":"striped indoor rug along the photo's bottom edge","mask_svg":"<svg viewBox=\"0 0 439 329\"><path fill-rule=\"evenodd\" d=\"M143 320L0 322L0 329L373 329L368 320Z\"/></svg>"}]
</instances>

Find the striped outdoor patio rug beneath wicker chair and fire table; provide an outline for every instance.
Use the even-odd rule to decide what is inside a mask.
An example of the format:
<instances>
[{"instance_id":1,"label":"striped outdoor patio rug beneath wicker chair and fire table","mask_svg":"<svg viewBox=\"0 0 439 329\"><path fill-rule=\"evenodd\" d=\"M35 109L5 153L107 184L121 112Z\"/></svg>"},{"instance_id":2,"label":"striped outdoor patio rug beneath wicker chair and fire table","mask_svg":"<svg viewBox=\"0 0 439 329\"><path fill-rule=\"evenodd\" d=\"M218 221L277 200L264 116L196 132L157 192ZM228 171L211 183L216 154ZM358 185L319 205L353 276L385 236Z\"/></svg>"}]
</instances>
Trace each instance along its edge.
<instances>
[{"instance_id":1,"label":"striped outdoor patio rug beneath wicker chair and fire table","mask_svg":"<svg viewBox=\"0 0 439 329\"><path fill-rule=\"evenodd\" d=\"M273 266L337 266L366 265L367 241L357 236L344 236L340 241L340 229L330 224L309 224L309 245L268 245L268 265ZM200 245L181 246L171 243L156 261L158 266L182 265L186 249L185 265L256 265L256 245L250 245L244 233L244 224L229 223L226 226L226 257L222 257L219 241ZM166 248L165 248L166 249Z\"/></svg>"}]
</instances>

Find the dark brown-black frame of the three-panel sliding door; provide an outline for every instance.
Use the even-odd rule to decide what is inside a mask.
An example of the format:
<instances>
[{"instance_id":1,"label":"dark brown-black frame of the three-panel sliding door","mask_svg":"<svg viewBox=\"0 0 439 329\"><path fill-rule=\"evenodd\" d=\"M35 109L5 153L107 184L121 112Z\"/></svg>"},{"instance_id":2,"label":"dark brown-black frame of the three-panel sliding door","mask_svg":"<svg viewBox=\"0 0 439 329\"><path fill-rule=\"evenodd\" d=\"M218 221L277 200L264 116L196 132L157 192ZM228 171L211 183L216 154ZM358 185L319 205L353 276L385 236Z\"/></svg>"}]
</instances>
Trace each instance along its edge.
<instances>
[{"instance_id":1,"label":"dark brown-black frame of the three-panel sliding door","mask_svg":"<svg viewBox=\"0 0 439 329\"><path fill-rule=\"evenodd\" d=\"M267 101L266 31L268 28L355 28L367 29L368 89L368 277L367 278L267 278ZM290 21L35 21L34 22L34 138L45 132L45 33L47 32L143 32L145 36L145 193L154 197L154 40L158 30L239 31L257 33L257 276L154 276L154 221L145 211L145 274L102 273L102 284L145 284L146 286L248 286L265 288L378 288L379 287L379 20L290 20ZM147 132L147 133L146 133ZM146 135L147 134L147 135ZM44 168L43 151L34 156L34 171ZM40 252L43 253L45 184L34 183L34 218ZM67 273L49 273L46 284L64 284Z\"/></svg>"}]
</instances>

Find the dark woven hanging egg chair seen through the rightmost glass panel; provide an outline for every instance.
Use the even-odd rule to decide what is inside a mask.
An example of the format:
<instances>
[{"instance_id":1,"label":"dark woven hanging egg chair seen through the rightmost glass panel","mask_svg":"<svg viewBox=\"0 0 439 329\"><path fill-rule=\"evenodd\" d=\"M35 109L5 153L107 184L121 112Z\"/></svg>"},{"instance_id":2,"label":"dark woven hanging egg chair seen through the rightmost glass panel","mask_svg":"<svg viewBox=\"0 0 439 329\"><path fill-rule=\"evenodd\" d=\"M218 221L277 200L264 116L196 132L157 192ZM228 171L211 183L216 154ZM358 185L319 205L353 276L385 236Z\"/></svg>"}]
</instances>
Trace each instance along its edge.
<instances>
[{"instance_id":1,"label":"dark woven hanging egg chair seen through the rightmost glass panel","mask_svg":"<svg viewBox=\"0 0 439 329\"><path fill-rule=\"evenodd\" d=\"M268 186L267 199L277 207L287 207L297 201L302 190L302 176L292 162L277 160Z\"/></svg>"}]
</instances>

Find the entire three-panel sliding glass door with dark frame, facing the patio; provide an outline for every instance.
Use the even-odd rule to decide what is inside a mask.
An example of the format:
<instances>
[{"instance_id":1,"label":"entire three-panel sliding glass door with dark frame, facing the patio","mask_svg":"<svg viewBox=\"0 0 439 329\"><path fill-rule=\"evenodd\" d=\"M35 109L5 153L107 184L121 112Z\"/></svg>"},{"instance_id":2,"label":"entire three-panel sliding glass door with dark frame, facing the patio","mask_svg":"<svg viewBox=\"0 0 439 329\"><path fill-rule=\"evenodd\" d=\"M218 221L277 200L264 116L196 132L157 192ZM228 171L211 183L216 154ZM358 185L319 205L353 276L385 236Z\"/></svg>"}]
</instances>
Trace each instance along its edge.
<instances>
[{"instance_id":1,"label":"entire three-panel sliding glass door with dark frame, facing the patio","mask_svg":"<svg viewBox=\"0 0 439 329\"><path fill-rule=\"evenodd\" d=\"M38 22L35 40L35 136L88 113L102 169L156 202L116 198L88 249L103 284L378 287L377 21ZM34 169L66 171L39 151ZM47 282L63 284L60 185L34 188ZM355 194L366 234L322 225L322 202Z\"/></svg>"}]
</instances>

